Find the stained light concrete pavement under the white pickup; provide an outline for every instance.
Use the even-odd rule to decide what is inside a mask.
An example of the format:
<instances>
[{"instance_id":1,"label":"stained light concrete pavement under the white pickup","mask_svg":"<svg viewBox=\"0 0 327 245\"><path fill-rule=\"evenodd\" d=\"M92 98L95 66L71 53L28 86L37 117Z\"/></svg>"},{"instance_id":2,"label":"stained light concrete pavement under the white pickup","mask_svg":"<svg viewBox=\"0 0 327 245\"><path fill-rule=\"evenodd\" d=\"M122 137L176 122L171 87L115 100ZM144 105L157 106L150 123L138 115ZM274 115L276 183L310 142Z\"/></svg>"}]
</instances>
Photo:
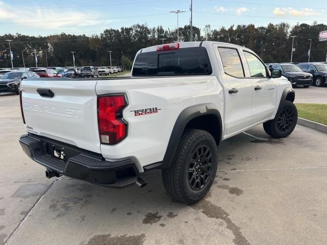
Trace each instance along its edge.
<instances>
[{"instance_id":1,"label":"stained light concrete pavement under the white pickup","mask_svg":"<svg viewBox=\"0 0 327 245\"><path fill-rule=\"evenodd\" d=\"M17 95L0 94L0 128L0 244L327 244L327 135L315 130L272 139L257 126L223 141L211 191L187 206L159 171L144 188L46 179L18 143Z\"/></svg>"}]
</instances>

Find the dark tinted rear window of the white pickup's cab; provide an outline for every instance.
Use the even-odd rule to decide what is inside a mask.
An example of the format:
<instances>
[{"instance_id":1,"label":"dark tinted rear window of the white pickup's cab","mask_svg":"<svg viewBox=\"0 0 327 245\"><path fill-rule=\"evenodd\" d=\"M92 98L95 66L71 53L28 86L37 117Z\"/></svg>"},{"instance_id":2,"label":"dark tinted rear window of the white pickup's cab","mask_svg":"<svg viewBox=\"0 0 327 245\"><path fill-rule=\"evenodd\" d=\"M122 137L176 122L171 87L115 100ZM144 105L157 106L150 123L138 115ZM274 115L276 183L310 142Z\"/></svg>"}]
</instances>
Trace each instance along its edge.
<instances>
[{"instance_id":1,"label":"dark tinted rear window of the white pickup's cab","mask_svg":"<svg viewBox=\"0 0 327 245\"><path fill-rule=\"evenodd\" d=\"M212 68L204 47L138 54L132 72L134 77L210 74Z\"/></svg>"}]
</instances>

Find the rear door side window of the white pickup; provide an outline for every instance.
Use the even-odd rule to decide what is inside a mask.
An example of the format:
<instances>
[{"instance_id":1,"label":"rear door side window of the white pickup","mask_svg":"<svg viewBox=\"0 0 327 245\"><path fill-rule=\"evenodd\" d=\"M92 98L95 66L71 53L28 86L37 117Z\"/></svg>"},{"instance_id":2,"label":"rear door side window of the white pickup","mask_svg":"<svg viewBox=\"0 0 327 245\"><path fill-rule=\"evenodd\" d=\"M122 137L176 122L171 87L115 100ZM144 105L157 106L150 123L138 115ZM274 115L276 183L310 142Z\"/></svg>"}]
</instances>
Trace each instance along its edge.
<instances>
[{"instance_id":1,"label":"rear door side window of the white pickup","mask_svg":"<svg viewBox=\"0 0 327 245\"><path fill-rule=\"evenodd\" d=\"M244 78L244 70L239 52L235 48L228 47L218 47L218 51L225 73L232 77Z\"/></svg>"}]
</instances>

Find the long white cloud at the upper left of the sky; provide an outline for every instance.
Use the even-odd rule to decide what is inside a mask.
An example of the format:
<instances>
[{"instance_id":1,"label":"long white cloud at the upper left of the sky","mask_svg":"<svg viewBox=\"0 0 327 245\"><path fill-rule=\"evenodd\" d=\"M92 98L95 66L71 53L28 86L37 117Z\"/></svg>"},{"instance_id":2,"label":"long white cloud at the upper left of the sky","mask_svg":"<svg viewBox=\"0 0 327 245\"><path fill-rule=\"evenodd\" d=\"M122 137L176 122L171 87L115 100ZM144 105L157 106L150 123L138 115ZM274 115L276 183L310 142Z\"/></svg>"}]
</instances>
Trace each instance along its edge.
<instances>
[{"instance_id":1,"label":"long white cloud at the upper left of the sky","mask_svg":"<svg viewBox=\"0 0 327 245\"><path fill-rule=\"evenodd\" d=\"M23 7L21 7L23 8ZM29 6L28 8L34 8ZM35 6L35 8L37 8ZM12 10L16 6L10 6L0 0L0 19L8 22L21 24L27 27L39 29L75 29L97 24L112 22L99 14L99 11L81 12L76 9L34 9L34 10Z\"/></svg>"}]
</instances>

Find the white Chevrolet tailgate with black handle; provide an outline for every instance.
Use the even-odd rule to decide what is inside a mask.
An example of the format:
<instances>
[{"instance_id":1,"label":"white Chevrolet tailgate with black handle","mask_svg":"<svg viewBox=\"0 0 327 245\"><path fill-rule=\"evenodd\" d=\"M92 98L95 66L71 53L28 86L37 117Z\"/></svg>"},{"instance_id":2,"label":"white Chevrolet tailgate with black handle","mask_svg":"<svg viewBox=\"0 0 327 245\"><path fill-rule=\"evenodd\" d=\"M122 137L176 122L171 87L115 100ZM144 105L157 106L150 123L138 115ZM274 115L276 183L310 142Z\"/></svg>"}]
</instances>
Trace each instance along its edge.
<instances>
[{"instance_id":1,"label":"white Chevrolet tailgate with black handle","mask_svg":"<svg viewBox=\"0 0 327 245\"><path fill-rule=\"evenodd\" d=\"M96 84L96 80L24 80L22 108L27 131L101 153ZM37 89L50 89L54 96L41 96Z\"/></svg>"}]
</instances>

